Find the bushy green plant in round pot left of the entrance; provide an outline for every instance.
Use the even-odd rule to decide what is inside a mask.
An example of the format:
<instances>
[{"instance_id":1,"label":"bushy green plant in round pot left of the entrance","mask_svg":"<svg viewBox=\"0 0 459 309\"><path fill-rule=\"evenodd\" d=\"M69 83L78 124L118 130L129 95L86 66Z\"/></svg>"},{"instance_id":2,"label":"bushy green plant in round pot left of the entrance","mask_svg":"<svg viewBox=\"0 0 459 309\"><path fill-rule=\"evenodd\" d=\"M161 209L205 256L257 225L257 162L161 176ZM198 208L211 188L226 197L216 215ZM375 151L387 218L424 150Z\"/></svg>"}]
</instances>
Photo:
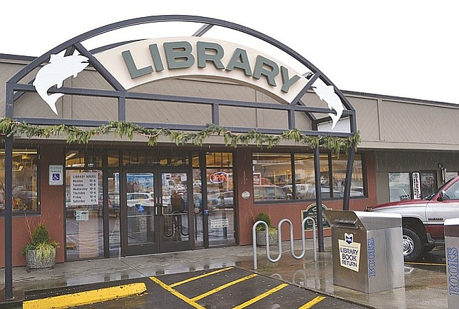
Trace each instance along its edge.
<instances>
[{"instance_id":1,"label":"bushy green plant in round pot left of the entrance","mask_svg":"<svg viewBox=\"0 0 459 309\"><path fill-rule=\"evenodd\" d=\"M55 265L55 248L57 247L59 243L51 241L45 224L39 224L30 233L30 241L25 245L21 254L25 256L29 269L50 269Z\"/></svg>"}]
</instances>

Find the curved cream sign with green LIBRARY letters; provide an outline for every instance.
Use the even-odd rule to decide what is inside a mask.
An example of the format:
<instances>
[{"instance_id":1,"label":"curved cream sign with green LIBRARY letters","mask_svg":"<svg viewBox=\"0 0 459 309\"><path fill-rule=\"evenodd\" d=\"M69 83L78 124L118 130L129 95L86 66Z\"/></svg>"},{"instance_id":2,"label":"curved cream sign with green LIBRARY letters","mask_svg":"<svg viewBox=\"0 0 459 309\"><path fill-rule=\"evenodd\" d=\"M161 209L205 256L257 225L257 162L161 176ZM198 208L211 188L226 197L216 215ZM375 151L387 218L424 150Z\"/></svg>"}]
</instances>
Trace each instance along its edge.
<instances>
[{"instance_id":1,"label":"curved cream sign with green LIBRARY letters","mask_svg":"<svg viewBox=\"0 0 459 309\"><path fill-rule=\"evenodd\" d=\"M306 77L269 55L210 38L140 40L95 57L127 90L160 79L212 77L250 84L290 103L308 83Z\"/></svg>"}]
</instances>

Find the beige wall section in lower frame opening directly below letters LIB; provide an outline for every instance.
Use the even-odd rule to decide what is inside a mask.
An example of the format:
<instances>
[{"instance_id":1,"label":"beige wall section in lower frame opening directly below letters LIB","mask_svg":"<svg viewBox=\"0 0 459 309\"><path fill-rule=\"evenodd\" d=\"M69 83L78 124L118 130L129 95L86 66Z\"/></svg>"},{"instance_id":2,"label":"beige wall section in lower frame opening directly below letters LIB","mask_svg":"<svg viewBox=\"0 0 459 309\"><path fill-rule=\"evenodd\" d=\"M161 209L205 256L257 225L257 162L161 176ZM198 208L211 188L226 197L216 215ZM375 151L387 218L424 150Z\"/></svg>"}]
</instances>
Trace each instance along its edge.
<instances>
[{"instance_id":1,"label":"beige wall section in lower frame opening directly below letters LIB","mask_svg":"<svg viewBox=\"0 0 459 309\"><path fill-rule=\"evenodd\" d=\"M212 109L208 105L190 103L126 100L126 120L168 124L206 124L212 122Z\"/></svg>"}]
</instances>

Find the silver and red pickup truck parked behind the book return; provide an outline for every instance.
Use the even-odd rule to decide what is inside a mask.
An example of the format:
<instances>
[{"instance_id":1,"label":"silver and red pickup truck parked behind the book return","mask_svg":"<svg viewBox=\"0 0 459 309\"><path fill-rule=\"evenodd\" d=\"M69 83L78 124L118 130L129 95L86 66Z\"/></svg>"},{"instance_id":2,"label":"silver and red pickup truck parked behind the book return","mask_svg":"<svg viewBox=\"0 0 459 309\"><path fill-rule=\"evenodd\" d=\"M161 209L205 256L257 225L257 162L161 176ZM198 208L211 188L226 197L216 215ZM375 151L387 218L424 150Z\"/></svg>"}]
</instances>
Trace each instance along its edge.
<instances>
[{"instance_id":1,"label":"silver and red pickup truck parked behind the book return","mask_svg":"<svg viewBox=\"0 0 459 309\"><path fill-rule=\"evenodd\" d=\"M445 245L445 219L459 217L459 176L421 200L401 200L367 207L377 213L398 213L402 219L404 260L418 260L424 252Z\"/></svg>"}]
</instances>

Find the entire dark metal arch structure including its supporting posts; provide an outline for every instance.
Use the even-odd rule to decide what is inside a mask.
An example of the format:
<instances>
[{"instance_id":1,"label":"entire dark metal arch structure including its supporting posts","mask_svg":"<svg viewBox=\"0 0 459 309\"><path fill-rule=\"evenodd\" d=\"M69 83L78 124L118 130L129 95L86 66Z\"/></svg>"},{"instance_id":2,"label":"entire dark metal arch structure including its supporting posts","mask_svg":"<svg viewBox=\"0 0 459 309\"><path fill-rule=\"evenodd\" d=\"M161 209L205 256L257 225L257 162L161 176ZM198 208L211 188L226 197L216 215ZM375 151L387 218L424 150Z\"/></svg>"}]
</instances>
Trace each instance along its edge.
<instances>
[{"instance_id":1,"label":"entire dark metal arch structure including its supporting posts","mask_svg":"<svg viewBox=\"0 0 459 309\"><path fill-rule=\"evenodd\" d=\"M310 81L306 84L305 88L300 92L300 94L295 98L289 105L275 105L275 104L266 104L266 103L256 103L256 102L243 102L235 100L219 100L219 99L209 99L209 98L193 98L189 96L167 96L164 94L142 94L136 92L128 92L123 88L123 86L114 79L110 73L101 66L97 59L92 55L90 51L84 48L81 44L82 41L88 40L89 38L98 36L102 33L108 31L121 29L124 27L141 25L146 23L157 23L157 22L170 22L170 21L184 21L184 22L194 22L194 23L203 23L201 27L193 36L202 36L203 33L206 33L212 26L221 26L228 29L233 29L240 31L242 33L249 34L254 38L258 38L271 44L272 46L277 47L290 57L293 57L298 62L312 70L312 77ZM122 44L122 43L121 43ZM106 46L107 47L107 46ZM110 46L108 46L110 47ZM5 116L8 118L14 118L20 122L27 122L29 124L69 124L77 126L99 126L105 124L104 121L95 121L95 120L72 120L72 119L57 119L57 118L21 118L14 117L14 101L21 96L22 92L35 92L35 88L32 83L19 83L21 79L25 78L27 74L32 72L34 69L41 66L43 63L47 62L51 54L60 53L66 51L66 55L70 55L73 51L77 50L79 53L88 57L90 64L101 74L101 76L110 83L114 90L92 90L92 89L83 89L83 88L66 88L62 87L59 89L59 92L64 94L77 94L82 96L102 96L102 97L112 97L118 98L118 120L125 120L126 113L126 98L142 98L147 100L165 100L165 101L174 101L182 103L195 103L195 104L208 104L212 105L212 122L214 124L219 124L219 105L227 106L240 106L240 107L256 107L260 109L281 109L287 111L288 113L288 127L289 129L295 129L295 111L306 112L310 120L312 121L313 130L302 131L306 135L319 135L317 131L318 126L322 122L330 121L329 116L317 119L313 113L330 113L330 109L318 108L318 107L307 107L301 102L301 97L306 94L306 92L312 86L312 83L321 78L327 85L333 85L334 90L343 105L345 110L343 111L343 118L349 118L350 122L350 133L330 133L330 132L321 132L320 135L330 135L337 137L349 137L357 132L356 126L356 111L353 109L349 100L343 95L343 93L336 88L336 86L328 79L323 73L316 68L313 64L308 62L306 58L301 56L299 53L290 49L290 47L282 44L281 42L266 36L263 33L260 33L256 30L238 25L235 23L230 23L228 21L219 20L216 18L208 18L201 16L189 16L189 15L161 15L161 16L147 16L141 18L133 18L127 21L121 21L117 23L112 23L93 29L86 33L82 33L79 36L75 36L71 40L68 40L53 49L49 50L47 53L41 55L40 57L35 58L22 68L19 72L16 73L10 80L6 82L6 99L5 99ZM97 51L97 49L95 50ZM16 92L16 94L15 94ZM55 87L51 88L49 92L57 92ZM140 126L145 127L169 127L170 129L182 129L182 130L201 130L203 126L193 126L193 125L183 125L183 124L145 124L139 123ZM235 132L247 132L247 128L242 127L229 127L229 130ZM271 133L279 134L282 133L282 130L276 129L258 129L261 133ZM13 149L13 137L5 137L5 299L13 299L12 292L12 149ZM347 161L347 172L346 172L346 182L345 182L345 198L343 200L343 209L349 209L349 191L351 186L351 173L353 168L353 157L355 150L351 148L349 151L348 161ZM317 170L319 169L319 148L317 147L314 150L314 169L316 170L316 192L320 192L320 178L318 177ZM316 204L321 205L321 194L316 195ZM318 228L319 228L319 251L323 251L323 227L322 227L322 214L321 211L317 212L318 219Z\"/></svg>"}]
</instances>

